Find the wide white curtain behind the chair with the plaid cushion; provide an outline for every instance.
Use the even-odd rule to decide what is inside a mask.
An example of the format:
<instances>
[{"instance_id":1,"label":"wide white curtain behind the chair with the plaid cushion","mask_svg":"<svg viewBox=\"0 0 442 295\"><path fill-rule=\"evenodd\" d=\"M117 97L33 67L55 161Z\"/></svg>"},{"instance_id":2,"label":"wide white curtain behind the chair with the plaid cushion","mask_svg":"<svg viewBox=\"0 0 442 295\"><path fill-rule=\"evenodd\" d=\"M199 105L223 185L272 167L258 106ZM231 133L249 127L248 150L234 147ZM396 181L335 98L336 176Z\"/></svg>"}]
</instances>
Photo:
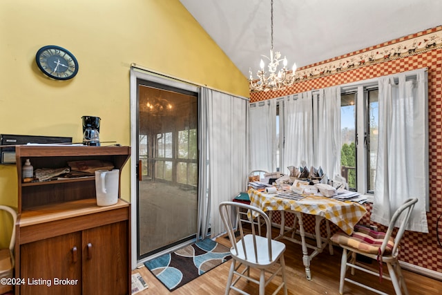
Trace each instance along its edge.
<instances>
[{"instance_id":1,"label":"wide white curtain behind the chair with the plaid cushion","mask_svg":"<svg viewBox=\"0 0 442 295\"><path fill-rule=\"evenodd\" d=\"M371 219L388 225L394 211L408 198L418 198L411 231L428 232L427 200L427 97L425 73L415 81L405 74L379 82L378 158Z\"/></svg>"}]
</instances>

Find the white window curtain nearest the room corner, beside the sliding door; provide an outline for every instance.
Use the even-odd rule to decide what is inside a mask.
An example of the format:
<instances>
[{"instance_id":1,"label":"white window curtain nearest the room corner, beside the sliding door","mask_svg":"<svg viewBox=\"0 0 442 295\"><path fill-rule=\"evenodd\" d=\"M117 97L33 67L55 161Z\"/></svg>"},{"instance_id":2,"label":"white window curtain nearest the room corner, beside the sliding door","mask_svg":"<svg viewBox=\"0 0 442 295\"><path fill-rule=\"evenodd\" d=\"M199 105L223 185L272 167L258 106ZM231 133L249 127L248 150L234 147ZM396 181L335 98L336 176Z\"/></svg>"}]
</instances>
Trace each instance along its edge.
<instances>
[{"instance_id":1,"label":"white window curtain nearest the room corner, beside the sliding door","mask_svg":"<svg viewBox=\"0 0 442 295\"><path fill-rule=\"evenodd\" d=\"M276 171L276 100L249 105L249 171Z\"/></svg>"}]
</instances>

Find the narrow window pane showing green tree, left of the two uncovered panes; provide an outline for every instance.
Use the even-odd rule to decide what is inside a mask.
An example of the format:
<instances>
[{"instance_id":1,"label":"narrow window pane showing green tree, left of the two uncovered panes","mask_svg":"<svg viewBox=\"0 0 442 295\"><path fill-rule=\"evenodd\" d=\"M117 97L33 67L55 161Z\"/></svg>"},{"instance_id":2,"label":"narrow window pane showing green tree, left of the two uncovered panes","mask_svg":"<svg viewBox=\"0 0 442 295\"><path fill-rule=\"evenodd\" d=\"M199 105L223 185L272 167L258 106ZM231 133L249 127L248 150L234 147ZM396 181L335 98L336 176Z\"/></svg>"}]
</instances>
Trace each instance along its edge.
<instances>
[{"instance_id":1,"label":"narrow window pane showing green tree, left of the two uncovered panes","mask_svg":"<svg viewBox=\"0 0 442 295\"><path fill-rule=\"evenodd\" d=\"M341 95L340 149L341 175L349 189L356 189L356 93Z\"/></svg>"}]
</instances>

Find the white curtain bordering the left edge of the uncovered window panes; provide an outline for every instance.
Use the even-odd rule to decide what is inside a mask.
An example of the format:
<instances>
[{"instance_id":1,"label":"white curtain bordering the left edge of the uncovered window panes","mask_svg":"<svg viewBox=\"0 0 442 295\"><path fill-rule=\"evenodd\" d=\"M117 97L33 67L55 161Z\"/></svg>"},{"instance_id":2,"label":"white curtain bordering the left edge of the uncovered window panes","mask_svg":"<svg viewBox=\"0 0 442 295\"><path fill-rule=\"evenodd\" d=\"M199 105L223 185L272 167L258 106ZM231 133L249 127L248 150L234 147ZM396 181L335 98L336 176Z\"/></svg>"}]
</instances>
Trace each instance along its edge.
<instances>
[{"instance_id":1,"label":"white curtain bordering the left edge of the uncovered window panes","mask_svg":"<svg viewBox=\"0 0 442 295\"><path fill-rule=\"evenodd\" d=\"M327 178L340 175L340 87L319 90L314 112L314 164Z\"/></svg>"}]
</instances>

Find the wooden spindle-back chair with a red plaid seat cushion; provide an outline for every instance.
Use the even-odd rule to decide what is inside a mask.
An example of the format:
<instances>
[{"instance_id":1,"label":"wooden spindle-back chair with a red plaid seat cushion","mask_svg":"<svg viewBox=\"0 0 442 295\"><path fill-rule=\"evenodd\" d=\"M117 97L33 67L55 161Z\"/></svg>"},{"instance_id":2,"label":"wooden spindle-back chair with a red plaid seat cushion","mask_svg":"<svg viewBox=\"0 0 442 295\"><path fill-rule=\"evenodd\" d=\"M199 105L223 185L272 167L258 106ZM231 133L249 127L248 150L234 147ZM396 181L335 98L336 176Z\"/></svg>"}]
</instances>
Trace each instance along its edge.
<instances>
[{"instance_id":1,"label":"wooden spindle-back chair with a red plaid seat cushion","mask_svg":"<svg viewBox=\"0 0 442 295\"><path fill-rule=\"evenodd\" d=\"M367 227L357 225L352 236L347 236L342 232L332 236L331 240L343 248L343 256L340 265L340 294L343 294L345 281L369 289L378 294L385 294L377 289L347 278L345 275L348 267L352 268L352 274L354 274L354 269L359 269L367 274L379 276L380 280L382 280L382 278L391 280L396 294L402 294L401 288L403 289L404 294L408 294L407 286L405 285L405 280L401 272L401 266L398 263L398 246L416 202L417 198L409 199L396 210L386 233L373 231ZM396 236L393 238L392 231L399 216L402 216L403 219ZM349 261L347 261L347 252L350 254ZM359 263L356 261L356 254L377 260L379 268L373 269L364 263ZM387 265L388 274L383 274L383 263Z\"/></svg>"}]
</instances>

